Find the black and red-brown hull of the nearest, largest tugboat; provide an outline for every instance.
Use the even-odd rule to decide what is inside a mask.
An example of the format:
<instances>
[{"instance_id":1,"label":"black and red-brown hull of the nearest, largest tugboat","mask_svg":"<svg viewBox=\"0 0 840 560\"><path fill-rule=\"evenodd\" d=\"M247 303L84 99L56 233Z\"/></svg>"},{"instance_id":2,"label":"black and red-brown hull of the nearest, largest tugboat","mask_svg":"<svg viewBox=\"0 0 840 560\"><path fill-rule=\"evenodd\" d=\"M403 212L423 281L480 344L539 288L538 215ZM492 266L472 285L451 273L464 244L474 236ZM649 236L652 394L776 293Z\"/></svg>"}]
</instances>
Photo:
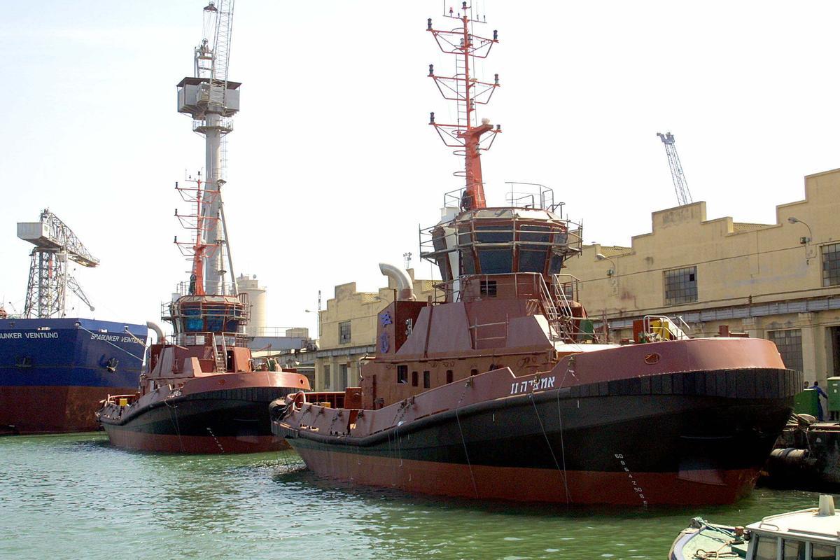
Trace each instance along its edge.
<instances>
[{"instance_id":1,"label":"black and red-brown hull of the nearest, largest tugboat","mask_svg":"<svg viewBox=\"0 0 840 560\"><path fill-rule=\"evenodd\" d=\"M770 349L718 339L597 350L551 372L496 369L375 411L290 397L273 409L272 430L316 474L353 484L481 500L732 503L753 488L801 387ZM652 353L658 361L645 363ZM630 367L637 359L643 374ZM682 369L691 364L732 367Z\"/></svg>"}]
</instances>

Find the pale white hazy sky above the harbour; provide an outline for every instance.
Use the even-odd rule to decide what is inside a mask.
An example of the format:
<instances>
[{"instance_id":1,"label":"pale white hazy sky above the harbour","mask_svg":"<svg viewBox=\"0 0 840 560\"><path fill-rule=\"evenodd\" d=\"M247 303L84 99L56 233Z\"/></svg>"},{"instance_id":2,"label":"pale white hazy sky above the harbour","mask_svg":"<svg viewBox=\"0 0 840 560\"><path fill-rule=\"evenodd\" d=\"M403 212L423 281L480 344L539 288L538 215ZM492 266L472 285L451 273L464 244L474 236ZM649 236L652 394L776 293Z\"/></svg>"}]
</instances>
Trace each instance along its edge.
<instances>
[{"instance_id":1,"label":"pale white hazy sky above the harbour","mask_svg":"<svg viewBox=\"0 0 840 560\"><path fill-rule=\"evenodd\" d=\"M477 4L489 24L476 31L501 40L483 64L501 87L479 115L504 131L483 160L490 204L505 181L540 182L586 243L629 244L676 205L666 130L710 218L773 222L803 175L840 167L838 3ZM157 321L186 280L173 186L202 168L203 139L175 85L192 76L203 5L4 5L0 296L18 311L30 246L15 222L43 207L102 261L76 272L97 306L71 298L82 317ZM441 13L438 0L236 4L225 204L236 272L268 286L270 326L314 329L319 289L375 290L377 263L407 251L428 277L417 227L460 186L461 161L428 126L452 112L426 76L452 69L425 31L428 17L455 23Z\"/></svg>"}]
</instances>

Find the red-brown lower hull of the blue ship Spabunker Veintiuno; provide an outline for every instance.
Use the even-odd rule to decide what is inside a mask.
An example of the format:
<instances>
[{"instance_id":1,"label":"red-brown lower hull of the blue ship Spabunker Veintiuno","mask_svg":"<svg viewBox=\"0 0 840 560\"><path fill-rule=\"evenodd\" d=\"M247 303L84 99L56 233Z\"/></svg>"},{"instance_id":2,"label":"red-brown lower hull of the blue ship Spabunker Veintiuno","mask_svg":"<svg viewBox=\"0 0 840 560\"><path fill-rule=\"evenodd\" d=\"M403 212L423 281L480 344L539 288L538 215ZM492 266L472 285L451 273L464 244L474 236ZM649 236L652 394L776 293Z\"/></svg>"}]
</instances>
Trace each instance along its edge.
<instances>
[{"instance_id":1,"label":"red-brown lower hull of the blue ship Spabunker Veintiuno","mask_svg":"<svg viewBox=\"0 0 840 560\"><path fill-rule=\"evenodd\" d=\"M0 433L93 432L96 411L108 395L128 387L0 386Z\"/></svg>"}]
</instances>

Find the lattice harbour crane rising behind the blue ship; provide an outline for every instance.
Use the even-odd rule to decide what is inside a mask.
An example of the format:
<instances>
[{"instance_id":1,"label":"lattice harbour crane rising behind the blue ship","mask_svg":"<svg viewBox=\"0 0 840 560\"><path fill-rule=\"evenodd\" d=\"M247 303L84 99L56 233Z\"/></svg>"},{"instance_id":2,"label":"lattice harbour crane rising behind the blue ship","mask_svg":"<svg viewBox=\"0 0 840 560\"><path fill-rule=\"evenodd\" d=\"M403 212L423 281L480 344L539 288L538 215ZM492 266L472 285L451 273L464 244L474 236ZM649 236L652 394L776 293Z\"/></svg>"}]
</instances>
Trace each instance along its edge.
<instances>
[{"instance_id":1,"label":"lattice harbour crane rising behind the blue ship","mask_svg":"<svg viewBox=\"0 0 840 560\"><path fill-rule=\"evenodd\" d=\"M67 288L91 311L94 310L79 283L67 270L67 261L94 268L99 265L99 259L87 250L65 222L45 209L41 212L39 222L18 222L18 238L35 246L30 255L32 261L29 265L24 317L65 317Z\"/></svg>"}]
</instances>

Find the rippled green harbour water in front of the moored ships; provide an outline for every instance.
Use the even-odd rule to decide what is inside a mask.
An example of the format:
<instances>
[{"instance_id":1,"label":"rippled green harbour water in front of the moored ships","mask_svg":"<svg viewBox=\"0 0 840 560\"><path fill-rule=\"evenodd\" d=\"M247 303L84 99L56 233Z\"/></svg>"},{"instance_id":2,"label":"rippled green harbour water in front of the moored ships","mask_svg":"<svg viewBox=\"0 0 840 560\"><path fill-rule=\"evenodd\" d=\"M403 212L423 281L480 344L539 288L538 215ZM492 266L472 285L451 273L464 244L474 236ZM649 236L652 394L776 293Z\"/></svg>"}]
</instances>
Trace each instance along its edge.
<instances>
[{"instance_id":1,"label":"rippled green harbour water in front of the moored ships","mask_svg":"<svg viewBox=\"0 0 840 560\"><path fill-rule=\"evenodd\" d=\"M488 504L341 486L292 451L131 453L102 433L0 437L0 468L3 559L664 560L693 516L747 524L817 500L757 489L702 508Z\"/></svg>"}]
</instances>

